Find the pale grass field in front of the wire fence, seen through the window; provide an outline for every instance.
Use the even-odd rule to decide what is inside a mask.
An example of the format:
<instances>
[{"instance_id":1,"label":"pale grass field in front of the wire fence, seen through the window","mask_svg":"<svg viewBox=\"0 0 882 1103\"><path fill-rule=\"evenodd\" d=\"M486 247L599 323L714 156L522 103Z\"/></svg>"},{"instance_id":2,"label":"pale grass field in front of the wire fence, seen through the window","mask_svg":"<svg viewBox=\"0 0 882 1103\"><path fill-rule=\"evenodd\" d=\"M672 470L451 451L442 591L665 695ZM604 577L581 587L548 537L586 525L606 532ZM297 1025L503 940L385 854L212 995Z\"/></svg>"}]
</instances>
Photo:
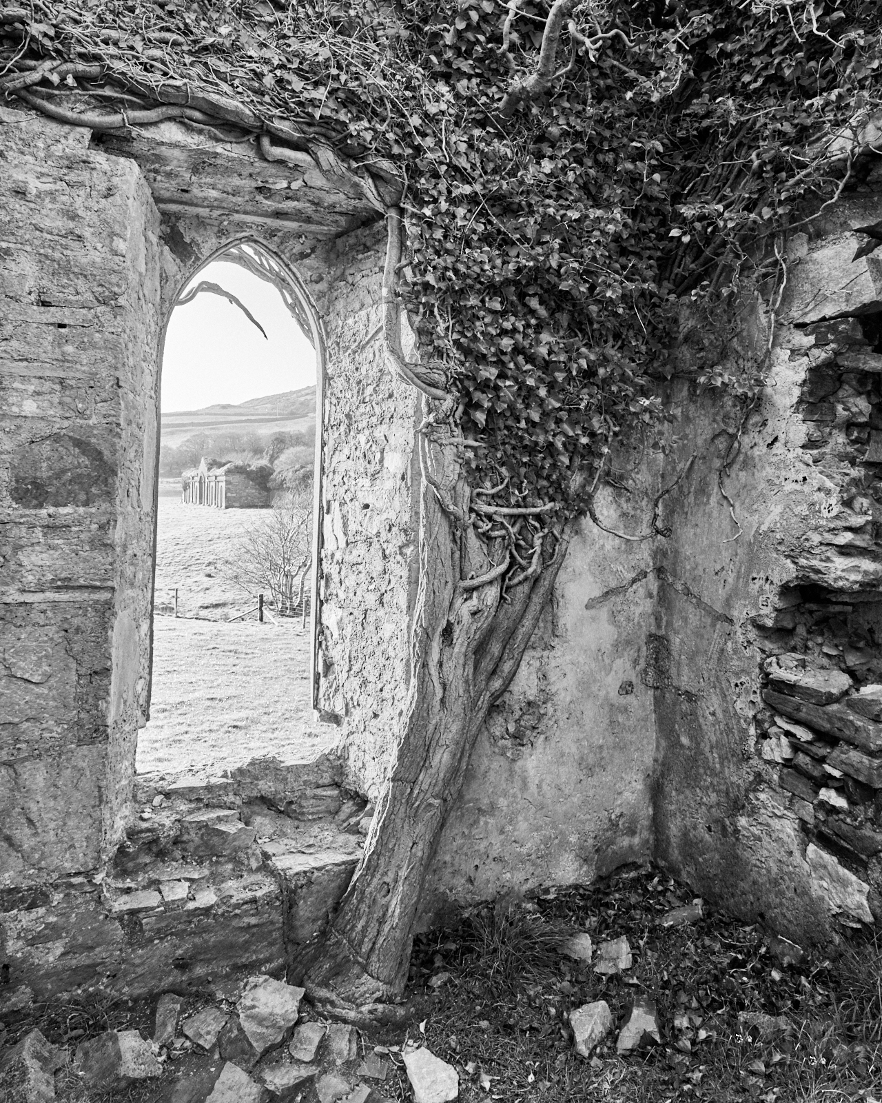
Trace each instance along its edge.
<instances>
[{"instance_id":1,"label":"pale grass field in front of the wire fence, seen through the window","mask_svg":"<svg viewBox=\"0 0 882 1103\"><path fill-rule=\"evenodd\" d=\"M302 762L327 750L336 728L312 719L309 647L309 628L293 621L157 617L138 773L219 774L254 758Z\"/></svg>"}]
</instances>

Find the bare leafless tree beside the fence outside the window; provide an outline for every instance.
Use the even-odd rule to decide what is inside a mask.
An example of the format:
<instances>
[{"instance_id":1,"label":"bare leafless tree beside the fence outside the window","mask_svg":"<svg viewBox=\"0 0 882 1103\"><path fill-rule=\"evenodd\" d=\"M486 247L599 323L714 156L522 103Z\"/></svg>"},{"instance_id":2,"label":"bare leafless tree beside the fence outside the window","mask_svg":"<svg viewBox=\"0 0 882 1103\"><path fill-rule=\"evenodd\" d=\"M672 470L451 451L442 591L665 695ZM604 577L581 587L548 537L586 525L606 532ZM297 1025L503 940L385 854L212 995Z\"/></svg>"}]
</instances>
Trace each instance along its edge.
<instances>
[{"instance_id":1,"label":"bare leafless tree beside the fence outside the window","mask_svg":"<svg viewBox=\"0 0 882 1103\"><path fill-rule=\"evenodd\" d=\"M248 595L268 593L281 617L303 602L312 567L312 486L304 482L280 495L239 539L228 578Z\"/></svg>"}]
</instances>

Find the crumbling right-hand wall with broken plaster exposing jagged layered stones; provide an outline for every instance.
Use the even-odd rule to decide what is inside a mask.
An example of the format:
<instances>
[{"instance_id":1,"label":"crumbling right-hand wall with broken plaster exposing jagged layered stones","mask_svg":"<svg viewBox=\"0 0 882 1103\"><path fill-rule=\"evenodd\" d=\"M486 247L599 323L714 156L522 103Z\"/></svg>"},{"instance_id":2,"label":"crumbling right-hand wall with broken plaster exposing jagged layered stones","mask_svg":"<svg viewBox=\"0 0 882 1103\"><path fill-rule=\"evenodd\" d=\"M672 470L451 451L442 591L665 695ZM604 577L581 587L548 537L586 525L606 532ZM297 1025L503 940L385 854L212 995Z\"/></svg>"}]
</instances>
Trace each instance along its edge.
<instances>
[{"instance_id":1,"label":"crumbling right-hand wall with broken plaster exposing jagged layered stones","mask_svg":"<svg viewBox=\"0 0 882 1103\"><path fill-rule=\"evenodd\" d=\"M797 941L882 920L882 714L849 705L882 681L882 266L852 263L851 229L880 216L882 199L854 197L790 243L770 386L724 481L741 535L717 486L735 411L673 394L685 439L671 463L699 460L666 503L675 535L656 553L682 583L659 587L653 628L657 854ZM766 686L781 654L802 674ZM820 698L818 671L838 677Z\"/></svg>"}]
</instances>

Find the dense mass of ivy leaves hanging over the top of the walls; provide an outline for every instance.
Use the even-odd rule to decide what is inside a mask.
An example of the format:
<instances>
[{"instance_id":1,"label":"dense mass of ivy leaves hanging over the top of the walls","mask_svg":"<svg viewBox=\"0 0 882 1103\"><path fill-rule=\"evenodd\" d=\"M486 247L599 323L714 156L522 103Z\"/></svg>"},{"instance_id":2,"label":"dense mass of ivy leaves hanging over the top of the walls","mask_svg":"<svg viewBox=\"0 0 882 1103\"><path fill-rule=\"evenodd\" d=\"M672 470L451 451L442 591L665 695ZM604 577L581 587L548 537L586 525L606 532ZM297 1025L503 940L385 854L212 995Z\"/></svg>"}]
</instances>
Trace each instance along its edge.
<instances>
[{"instance_id":1,"label":"dense mass of ivy leaves hanging over the top of the walls","mask_svg":"<svg viewBox=\"0 0 882 1103\"><path fill-rule=\"evenodd\" d=\"M185 82L404 173L399 291L484 446L470 479L568 514L611 442L663 413L684 300L722 318L750 277L774 306L786 234L860 184L880 107L875 0L573 3L561 73L510 115L541 0L35 10L6 9L13 72L51 56L103 62L129 92ZM753 394L762 368L696 373Z\"/></svg>"}]
</instances>

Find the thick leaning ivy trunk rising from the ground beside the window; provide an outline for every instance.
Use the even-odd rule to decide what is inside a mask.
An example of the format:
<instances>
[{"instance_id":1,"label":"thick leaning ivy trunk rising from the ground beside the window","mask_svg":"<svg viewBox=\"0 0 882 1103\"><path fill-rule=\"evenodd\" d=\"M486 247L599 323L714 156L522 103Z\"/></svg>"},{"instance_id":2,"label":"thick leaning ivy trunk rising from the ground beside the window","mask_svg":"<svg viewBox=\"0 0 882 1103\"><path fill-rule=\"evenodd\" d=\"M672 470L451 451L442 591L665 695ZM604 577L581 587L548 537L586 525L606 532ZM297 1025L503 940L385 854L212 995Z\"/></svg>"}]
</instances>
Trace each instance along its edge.
<instances>
[{"instance_id":1,"label":"thick leaning ivy trunk rising from the ground beside the window","mask_svg":"<svg viewBox=\"0 0 882 1103\"><path fill-rule=\"evenodd\" d=\"M493 564L474 534L451 515L467 512L467 490L450 446L429 446L444 488L423 479L420 587L411 644L407 719L364 856L329 933L305 947L291 979L338 1013L395 1000L408 975L412 929L441 829L462 786L490 706L512 681L566 554L561 535L541 571L501 601L502 577L463 587ZM459 510L456 511L459 512ZM481 561L483 560L483 561ZM492 571L490 571L492 574Z\"/></svg>"}]
</instances>

